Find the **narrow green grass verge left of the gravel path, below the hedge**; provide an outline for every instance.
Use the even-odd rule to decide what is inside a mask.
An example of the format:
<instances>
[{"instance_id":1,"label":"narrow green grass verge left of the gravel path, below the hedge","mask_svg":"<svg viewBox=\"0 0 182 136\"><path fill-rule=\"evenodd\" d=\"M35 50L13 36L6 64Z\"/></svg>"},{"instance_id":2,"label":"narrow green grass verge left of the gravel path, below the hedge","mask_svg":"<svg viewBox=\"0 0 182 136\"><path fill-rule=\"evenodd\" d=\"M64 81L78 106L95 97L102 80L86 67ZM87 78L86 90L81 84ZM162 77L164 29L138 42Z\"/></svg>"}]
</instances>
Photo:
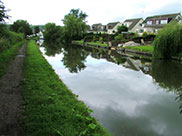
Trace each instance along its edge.
<instances>
[{"instance_id":1,"label":"narrow green grass verge left of the gravel path, below the hedge","mask_svg":"<svg viewBox=\"0 0 182 136\"><path fill-rule=\"evenodd\" d=\"M18 42L0 53L0 78L7 72L11 60L15 57L23 43L25 43L25 41Z\"/></svg>"}]
</instances>

